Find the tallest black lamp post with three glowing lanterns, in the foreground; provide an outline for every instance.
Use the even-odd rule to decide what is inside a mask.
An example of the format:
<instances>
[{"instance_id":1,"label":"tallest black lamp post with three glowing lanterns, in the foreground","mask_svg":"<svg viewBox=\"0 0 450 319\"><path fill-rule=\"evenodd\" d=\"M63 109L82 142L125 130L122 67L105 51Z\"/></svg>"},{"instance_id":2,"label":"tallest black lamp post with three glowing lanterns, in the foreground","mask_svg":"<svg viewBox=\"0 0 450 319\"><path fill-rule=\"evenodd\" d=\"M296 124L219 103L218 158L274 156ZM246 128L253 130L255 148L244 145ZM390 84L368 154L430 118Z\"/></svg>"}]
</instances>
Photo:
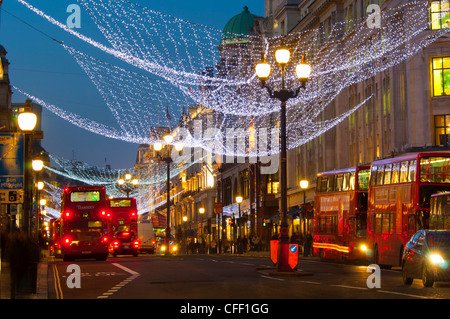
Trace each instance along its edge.
<instances>
[{"instance_id":1,"label":"tallest black lamp post with three glowing lanterns, in the foreground","mask_svg":"<svg viewBox=\"0 0 450 319\"><path fill-rule=\"evenodd\" d=\"M274 91L267 86L266 81L270 76L270 64L264 57L255 67L256 75L261 80L271 98L278 99L281 102L280 108L280 236L278 246L277 271L292 271L288 263L289 257L289 236L287 225L287 147L286 147L286 104L291 98L296 98L300 89L304 88L311 74L311 67L305 62L305 56L302 56L301 63L296 66L297 77L300 80L300 87L293 90L287 90L285 85L286 65L290 59L290 51L286 47L281 47L275 51L275 59L281 68L281 90Z\"/></svg>"}]
</instances>

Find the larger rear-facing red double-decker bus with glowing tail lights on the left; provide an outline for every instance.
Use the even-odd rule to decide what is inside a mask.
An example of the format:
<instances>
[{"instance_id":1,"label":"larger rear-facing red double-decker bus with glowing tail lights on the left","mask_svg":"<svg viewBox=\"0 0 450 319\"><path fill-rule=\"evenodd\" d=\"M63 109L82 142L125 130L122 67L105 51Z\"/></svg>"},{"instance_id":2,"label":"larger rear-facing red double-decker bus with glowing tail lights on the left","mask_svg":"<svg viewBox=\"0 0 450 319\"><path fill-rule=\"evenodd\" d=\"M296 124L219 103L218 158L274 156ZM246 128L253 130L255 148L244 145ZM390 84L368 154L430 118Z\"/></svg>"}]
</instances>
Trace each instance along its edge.
<instances>
[{"instance_id":1,"label":"larger rear-facing red double-decker bus with glowing tail lights on the left","mask_svg":"<svg viewBox=\"0 0 450 319\"><path fill-rule=\"evenodd\" d=\"M108 257L108 206L104 186L66 187L61 196L64 261Z\"/></svg>"}]
</instances>

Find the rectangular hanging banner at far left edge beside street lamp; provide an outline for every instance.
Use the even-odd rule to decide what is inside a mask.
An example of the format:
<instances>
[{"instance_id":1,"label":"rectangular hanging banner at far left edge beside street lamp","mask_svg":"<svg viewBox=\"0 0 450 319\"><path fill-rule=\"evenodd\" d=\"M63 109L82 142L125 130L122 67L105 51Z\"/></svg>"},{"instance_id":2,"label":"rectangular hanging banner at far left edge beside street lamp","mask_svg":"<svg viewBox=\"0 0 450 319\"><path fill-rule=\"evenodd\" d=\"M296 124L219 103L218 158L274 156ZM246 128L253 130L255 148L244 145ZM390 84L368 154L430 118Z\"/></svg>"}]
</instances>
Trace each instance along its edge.
<instances>
[{"instance_id":1,"label":"rectangular hanging banner at far left edge beside street lamp","mask_svg":"<svg viewBox=\"0 0 450 319\"><path fill-rule=\"evenodd\" d=\"M24 139L20 133L0 133L0 203L22 203Z\"/></svg>"}]
</instances>

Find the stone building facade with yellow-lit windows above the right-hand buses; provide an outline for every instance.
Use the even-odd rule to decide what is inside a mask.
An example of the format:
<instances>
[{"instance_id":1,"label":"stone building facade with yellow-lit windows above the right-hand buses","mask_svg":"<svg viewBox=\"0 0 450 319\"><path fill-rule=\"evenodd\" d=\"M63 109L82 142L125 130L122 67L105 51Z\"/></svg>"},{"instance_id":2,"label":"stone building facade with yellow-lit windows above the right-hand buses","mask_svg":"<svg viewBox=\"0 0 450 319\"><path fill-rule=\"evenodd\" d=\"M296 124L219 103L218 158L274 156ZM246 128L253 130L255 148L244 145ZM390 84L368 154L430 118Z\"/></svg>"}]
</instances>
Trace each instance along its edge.
<instances>
[{"instance_id":1,"label":"stone building facade with yellow-lit windows above the right-hand buses","mask_svg":"<svg viewBox=\"0 0 450 319\"><path fill-rule=\"evenodd\" d=\"M327 34L336 24L346 31L364 21L369 5L381 10L399 7L399 0L266 0L266 17L259 25L265 33L284 35L318 28ZM429 1L432 29L448 27L448 3ZM266 29L264 29L266 26ZM268 27L267 27L268 26ZM427 31L425 31L427 32ZM264 33L264 32L263 32ZM375 76L345 88L320 115L330 119L360 104L365 105L320 137L288 151L288 207L304 202L299 181L307 179L306 203L314 200L316 176L370 164L376 159L420 150L450 150L450 40L441 37L411 58ZM311 225L311 220L309 221Z\"/></svg>"}]
</instances>

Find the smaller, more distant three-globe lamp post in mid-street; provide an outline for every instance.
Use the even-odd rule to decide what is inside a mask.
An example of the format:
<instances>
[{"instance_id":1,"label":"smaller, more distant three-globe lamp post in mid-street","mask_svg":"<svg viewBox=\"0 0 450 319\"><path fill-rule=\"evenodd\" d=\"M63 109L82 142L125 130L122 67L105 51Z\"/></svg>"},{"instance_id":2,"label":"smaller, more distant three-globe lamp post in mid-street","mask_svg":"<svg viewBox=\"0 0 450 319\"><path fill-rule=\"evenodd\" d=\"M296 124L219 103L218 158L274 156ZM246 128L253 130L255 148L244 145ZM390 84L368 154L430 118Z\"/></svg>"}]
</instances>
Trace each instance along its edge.
<instances>
[{"instance_id":1,"label":"smaller, more distant three-globe lamp post in mid-street","mask_svg":"<svg viewBox=\"0 0 450 319\"><path fill-rule=\"evenodd\" d=\"M166 196L167 196L167 216L166 216L166 236L165 236L165 255L170 255L170 164L173 162L171 157L172 152L172 145L173 142L173 136L171 134L166 134L163 137L164 141L166 142L166 152L162 152L164 148L164 144L161 142L157 142L153 144L153 149L156 151L156 158L158 158L160 161L165 162L167 165L167 182L166 182ZM175 150L178 152L183 150L183 146L181 143L175 143Z\"/></svg>"}]
</instances>

